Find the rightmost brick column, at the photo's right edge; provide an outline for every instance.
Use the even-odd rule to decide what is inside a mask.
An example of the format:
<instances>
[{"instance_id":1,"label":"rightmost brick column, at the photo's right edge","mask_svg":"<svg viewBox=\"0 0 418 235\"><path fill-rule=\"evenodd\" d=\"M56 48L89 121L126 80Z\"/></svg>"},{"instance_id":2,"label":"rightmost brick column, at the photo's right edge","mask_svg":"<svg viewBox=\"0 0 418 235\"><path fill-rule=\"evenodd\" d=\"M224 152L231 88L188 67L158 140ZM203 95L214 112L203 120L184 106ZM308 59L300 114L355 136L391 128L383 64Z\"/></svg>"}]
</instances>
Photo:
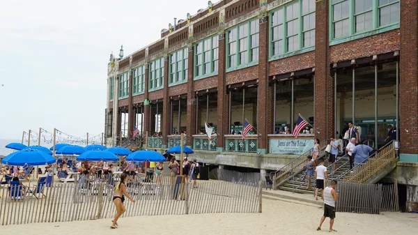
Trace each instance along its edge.
<instances>
[{"instance_id":1,"label":"rightmost brick column, at the photo's right edge","mask_svg":"<svg viewBox=\"0 0 418 235\"><path fill-rule=\"evenodd\" d=\"M418 162L418 0L401 1L399 119L400 158Z\"/></svg>"}]
</instances>

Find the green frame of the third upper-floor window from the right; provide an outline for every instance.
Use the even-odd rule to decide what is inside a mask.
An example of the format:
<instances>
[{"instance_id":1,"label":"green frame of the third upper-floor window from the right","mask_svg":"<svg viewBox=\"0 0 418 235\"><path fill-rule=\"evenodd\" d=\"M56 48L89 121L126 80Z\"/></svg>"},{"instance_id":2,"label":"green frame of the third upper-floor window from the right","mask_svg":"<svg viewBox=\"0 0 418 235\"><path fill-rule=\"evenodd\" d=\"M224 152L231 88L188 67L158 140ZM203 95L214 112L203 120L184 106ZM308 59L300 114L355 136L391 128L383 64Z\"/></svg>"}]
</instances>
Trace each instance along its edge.
<instances>
[{"instance_id":1,"label":"green frame of the third upper-floor window from the right","mask_svg":"<svg viewBox=\"0 0 418 235\"><path fill-rule=\"evenodd\" d=\"M226 72L231 72L233 70L238 70L240 68L247 68L250 66L254 66L256 64L258 64L258 60L256 61L251 61L252 56L251 56L251 51L255 50L256 48L260 47L260 39L259 39L259 27L258 27L258 31L256 31L256 33L251 33L251 23L252 22L256 22L256 25L258 24L258 18L252 18L250 20L247 20L246 22L242 22L241 24L235 25L232 28L229 28L226 31ZM243 36L242 38L240 38L240 27L241 26L247 26L247 34L245 36ZM233 30L236 30L236 38L233 42L235 42L235 64L237 66L231 68L231 64L229 63L229 56L231 56L231 54L229 54L229 44L231 43L229 41L229 33ZM251 48L251 36L254 36L258 34L258 47L252 47ZM246 50L243 50L242 52L245 52L247 54L247 63L242 63L240 64L240 40L247 38L247 48Z\"/></svg>"}]
</instances>

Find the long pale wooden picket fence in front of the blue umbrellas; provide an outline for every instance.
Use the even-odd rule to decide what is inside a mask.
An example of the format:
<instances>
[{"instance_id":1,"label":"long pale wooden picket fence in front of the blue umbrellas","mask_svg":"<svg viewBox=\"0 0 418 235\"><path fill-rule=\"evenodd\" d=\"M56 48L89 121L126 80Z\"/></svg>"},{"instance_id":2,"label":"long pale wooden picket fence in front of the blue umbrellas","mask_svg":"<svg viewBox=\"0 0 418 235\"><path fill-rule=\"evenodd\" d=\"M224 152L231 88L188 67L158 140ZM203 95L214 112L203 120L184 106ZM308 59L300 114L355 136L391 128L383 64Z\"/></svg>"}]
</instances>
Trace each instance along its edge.
<instances>
[{"instance_id":1,"label":"long pale wooden picket fence in front of the blue umbrellas","mask_svg":"<svg viewBox=\"0 0 418 235\"><path fill-rule=\"evenodd\" d=\"M199 181L195 188L192 183L175 181L171 176L162 176L159 185L153 181L127 185L136 203L125 199L123 217L261 212L261 182ZM114 186L107 183L91 183L86 188L79 188L77 183L56 183L44 189L43 199L29 195L12 198L9 190L13 188L0 188L1 225L95 220L113 218L116 213L112 202Z\"/></svg>"}]
</instances>

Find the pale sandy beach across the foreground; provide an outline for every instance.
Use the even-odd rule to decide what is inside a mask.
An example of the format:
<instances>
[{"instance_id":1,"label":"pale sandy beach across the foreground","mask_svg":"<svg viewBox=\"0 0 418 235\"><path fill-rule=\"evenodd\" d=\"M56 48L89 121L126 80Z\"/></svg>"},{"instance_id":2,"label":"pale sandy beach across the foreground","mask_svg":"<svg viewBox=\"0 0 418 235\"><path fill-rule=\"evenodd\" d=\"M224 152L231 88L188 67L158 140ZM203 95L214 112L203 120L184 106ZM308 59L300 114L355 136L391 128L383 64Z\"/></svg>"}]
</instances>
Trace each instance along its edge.
<instances>
[{"instance_id":1,"label":"pale sandy beach across the foreground","mask_svg":"<svg viewBox=\"0 0 418 235\"><path fill-rule=\"evenodd\" d=\"M323 209L302 202L263 199L263 213L212 213L200 215L158 215L121 218L118 229L111 221L36 223L1 227L3 234L329 234L329 220L316 231ZM171 224L170 224L171 221ZM417 234L418 215L337 213L336 234ZM176 224L178 226L173 225ZM199 232L198 232L199 231ZM186 232L187 234L188 232Z\"/></svg>"}]
</instances>

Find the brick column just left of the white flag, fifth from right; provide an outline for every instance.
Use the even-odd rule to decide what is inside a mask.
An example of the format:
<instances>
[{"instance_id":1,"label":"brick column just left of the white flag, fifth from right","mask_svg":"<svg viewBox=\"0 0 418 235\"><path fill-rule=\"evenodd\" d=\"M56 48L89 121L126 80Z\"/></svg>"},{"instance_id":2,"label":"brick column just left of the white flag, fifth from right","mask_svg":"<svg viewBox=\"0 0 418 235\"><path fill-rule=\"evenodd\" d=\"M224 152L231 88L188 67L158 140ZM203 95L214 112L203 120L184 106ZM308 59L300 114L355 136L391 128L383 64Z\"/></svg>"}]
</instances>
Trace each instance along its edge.
<instances>
[{"instance_id":1,"label":"brick column just left of the white flag, fifth from right","mask_svg":"<svg viewBox=\"0 0 418 235\"><path fill-rule=\"evenodd\" d=\"M187 59L187 124L186 124L186 145L193 145L192 135L196 134L196 98L194 98L194 50L189 46L189 55Z\"/></svg>"}]
</instances>

